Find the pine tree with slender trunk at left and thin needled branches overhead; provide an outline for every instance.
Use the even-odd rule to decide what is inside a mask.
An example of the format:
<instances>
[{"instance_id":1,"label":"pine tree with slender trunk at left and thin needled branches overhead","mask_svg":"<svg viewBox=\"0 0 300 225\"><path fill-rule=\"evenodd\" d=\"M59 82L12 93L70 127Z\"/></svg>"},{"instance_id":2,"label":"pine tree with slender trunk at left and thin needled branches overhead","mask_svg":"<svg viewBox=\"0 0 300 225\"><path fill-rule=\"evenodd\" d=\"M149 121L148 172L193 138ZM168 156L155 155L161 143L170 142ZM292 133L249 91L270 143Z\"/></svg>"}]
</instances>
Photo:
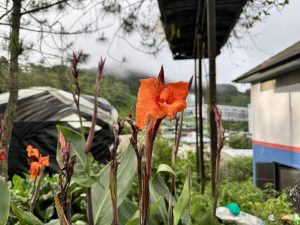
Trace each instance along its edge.
<instances>
[{"instance_id":1,"label":"pine tree with slender trunk at left and thin needled branches overhead","mask_svg":"<svg viewBox=\"0 0 300 225\"><path fill-rule=\"evenodd\" d=\"M147 8L153 2L153 0L137 2L125 0L2 1L0 3L0 28L3 28L5 32L3 32L4 35L1 32L2 42L0 43L2 43L2 49L8 52L8 90L10 92L4 115L5 131L1 137L3 146L7 150L9 149L18 99L18 74L21 56L28 58L29 54L38 52L41 55L41 62L49 61L50 58L56 61L60 59L63 64L68 61L74 51L74 40L68 41L65 37L93 34L100 31L103 28L101 18L107 14L117 14L120 18L119 27L113 39L110 40L110 45L115 38L119 38L139 51L154 54L159 51L163 40L158 39L157 32L155 32L158 30L156 25L159 16L153 22L151 14L145 14L142 10L143 7ZM72 13L74 14L72 21L67 22L65 18ZM87 19L89 17L92 19ZM143 20L140 20L141 17ZM78 24L80 24L79 27ZM139 46L134 46L127 40L127 37L134 31L140 35ZM38 41L26 42L21 36L21 33L24 32L33 35ZM162 29L160 33L163 33ZM161 36L163 37L163 35ZM99 34L98 40L106 40L104 33ZM47 47L45 48L45 46ZM7 151L8 153L9 151ZM6 162L0 164L0 174L7 176Z\"/></svg>"}]
</instances>

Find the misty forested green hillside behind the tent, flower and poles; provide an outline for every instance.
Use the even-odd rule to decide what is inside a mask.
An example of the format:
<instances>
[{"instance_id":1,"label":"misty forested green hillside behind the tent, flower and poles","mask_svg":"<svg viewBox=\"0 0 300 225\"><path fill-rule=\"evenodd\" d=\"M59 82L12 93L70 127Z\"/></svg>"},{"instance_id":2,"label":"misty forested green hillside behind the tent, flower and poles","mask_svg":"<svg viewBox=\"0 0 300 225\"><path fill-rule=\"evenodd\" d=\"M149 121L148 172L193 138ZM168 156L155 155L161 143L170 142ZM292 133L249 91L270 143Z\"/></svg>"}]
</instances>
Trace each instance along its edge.
<instances>
[{"instance_id":1,"label":"misty forested green hillside behind the tent, flower and poles","mask_svg":"<svg viewBox=\"0 0 300 225\"><path fill-rule=\"evenodd\" d=\"M7 91L7 63L5 58L0 58L0 93ZM20 88L33 86L50 86L66 91L71 90L70 68L56 65L44 67L27 64L21 67L19 76ZM94 69L80 70L79 80L81 91L93 95L96 71ZM100 88L100 96L106 98L119 111L121 116L127 115L130 108L135 107L139 80L145 76L130 72L120 77L107 72L104 74ZM206 88L204 88L206 96ZM250 101L249 93L242 93L234 85L218 85L218 103L223 105L247 106ZM133 110L135 111L135 110Z\"/></svg>"}]
</instances>

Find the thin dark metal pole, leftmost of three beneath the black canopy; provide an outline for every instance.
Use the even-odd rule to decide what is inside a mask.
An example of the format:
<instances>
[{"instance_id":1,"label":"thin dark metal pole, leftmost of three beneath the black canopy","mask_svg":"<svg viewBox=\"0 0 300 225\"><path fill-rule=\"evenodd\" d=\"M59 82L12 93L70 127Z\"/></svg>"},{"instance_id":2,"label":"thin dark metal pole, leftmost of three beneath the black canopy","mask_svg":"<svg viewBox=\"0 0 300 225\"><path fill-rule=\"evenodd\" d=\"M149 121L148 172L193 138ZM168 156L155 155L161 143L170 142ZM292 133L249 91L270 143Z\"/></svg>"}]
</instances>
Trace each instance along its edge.
<instances>
[{"instance_id":1,"label":"thin dark metal pole, leftmost of three beneath the black canopy","mask_svg":"<svg viewBox=\"0 0 300 225\"><path fill-rule=\"evenodd\" d=\"M197 168L197 180L200 183L200 164L199 164L199 125L198 125L198 105L199 105L199 100L198 100L198 79L197 79L197 59L194 60L195 62L195 127L196 127L196 168Z\"/></svg>"}]
</instances>

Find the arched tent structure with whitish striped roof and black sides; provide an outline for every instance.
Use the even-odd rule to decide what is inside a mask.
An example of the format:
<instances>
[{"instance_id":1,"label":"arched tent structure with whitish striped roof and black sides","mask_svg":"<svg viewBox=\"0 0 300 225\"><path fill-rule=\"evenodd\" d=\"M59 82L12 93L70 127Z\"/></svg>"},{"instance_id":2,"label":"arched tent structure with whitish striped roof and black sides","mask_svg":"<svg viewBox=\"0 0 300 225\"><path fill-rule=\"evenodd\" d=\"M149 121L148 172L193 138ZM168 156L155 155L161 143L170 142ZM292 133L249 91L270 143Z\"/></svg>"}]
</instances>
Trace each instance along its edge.
<instances>
[{"instance_id":1,"label":"arched tent structure with whitish striped roof and black sides","mask_svg":"<svg viewBox=\"0 0 300 225\"><path fill-rule=\"evenodd\" d=\"M92 120L93 99L94 97L89 95L80 97L80 111L86 135ZM0 113L4 113L7 100L8 93L0 94ZM72 94L50 87L21 89L16 114L8 159L9 177L28 172L26 148L29 144L38 148L42 155L50 156L50 166L46 171L56 172L58 170L56 126L63 125L80 130L78 112ZM101 163L109 159L109 146L113 143L112 124L117 117L116 109L107 100L100 98L91 153Z\"/></svg>"}]
</instances>

